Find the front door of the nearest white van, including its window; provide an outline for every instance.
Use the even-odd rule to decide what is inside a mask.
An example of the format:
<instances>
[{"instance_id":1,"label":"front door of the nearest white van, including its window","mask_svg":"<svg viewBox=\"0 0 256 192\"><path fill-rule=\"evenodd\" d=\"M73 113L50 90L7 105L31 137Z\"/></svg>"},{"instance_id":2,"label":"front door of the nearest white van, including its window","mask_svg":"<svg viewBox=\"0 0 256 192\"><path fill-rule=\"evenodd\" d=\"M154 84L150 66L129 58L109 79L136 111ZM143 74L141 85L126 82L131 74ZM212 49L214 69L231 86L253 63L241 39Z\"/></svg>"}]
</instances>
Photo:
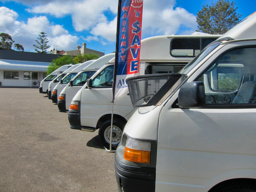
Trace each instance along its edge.
<instances>
[{"instance_id":1,"label":"front door of the nearest white van, including its window","mask_svg":"<svg viewBox=\"0 0 256 192\"><path fill-rule=\"evenodd\" d=\"M156 191L205 192L255 167L256 47L240 44L188 80L204 82L203 108L179 108L178 93L163 107Z\"/></svg>"}]
</instances>

